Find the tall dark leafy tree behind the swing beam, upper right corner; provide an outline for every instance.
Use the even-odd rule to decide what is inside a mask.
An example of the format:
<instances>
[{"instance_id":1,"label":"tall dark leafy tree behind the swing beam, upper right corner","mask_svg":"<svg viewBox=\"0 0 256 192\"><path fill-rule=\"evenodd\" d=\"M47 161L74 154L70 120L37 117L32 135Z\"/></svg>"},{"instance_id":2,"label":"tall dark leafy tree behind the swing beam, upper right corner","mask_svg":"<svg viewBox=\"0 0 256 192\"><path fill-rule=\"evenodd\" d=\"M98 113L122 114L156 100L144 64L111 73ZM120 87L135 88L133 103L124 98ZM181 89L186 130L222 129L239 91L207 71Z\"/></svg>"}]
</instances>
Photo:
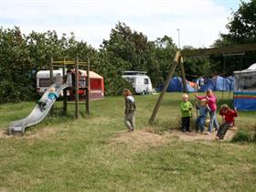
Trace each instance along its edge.
<instances>
[{"instance_id":1,"label":"tall dark leafy tree behind the swing beam, upper right corner","mask_svg":"<svg viewBox=\"0 0 256 192\"><path fill-rule=\"evenodd\" d=\"M256 0L251 0L248 3L241 1L239 9L231 15L232 18L226 26L229 33L220 34L220 38L214 42L212 47L219 48L256 42ZM224 60L226 68L224 68ZM219 63L215 68L219 73L231 75L234 70L246 69L251 63L254 63L256 51L246 52L244 56L216 56L212 61Z\"/></svg>"}]
</instances>

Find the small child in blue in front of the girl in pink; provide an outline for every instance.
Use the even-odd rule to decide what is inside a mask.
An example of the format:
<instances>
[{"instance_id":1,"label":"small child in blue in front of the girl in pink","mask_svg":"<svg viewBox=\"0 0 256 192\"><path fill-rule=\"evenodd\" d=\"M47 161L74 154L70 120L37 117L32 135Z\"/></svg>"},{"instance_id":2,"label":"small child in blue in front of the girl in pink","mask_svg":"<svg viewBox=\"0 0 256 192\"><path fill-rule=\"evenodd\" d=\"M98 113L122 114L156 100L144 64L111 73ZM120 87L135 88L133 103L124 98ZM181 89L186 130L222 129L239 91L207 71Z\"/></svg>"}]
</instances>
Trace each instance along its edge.
<instances>
[{"instance_id":1,"label":"small child in blue in front of the girl in pink","mask_svg":"<svg viewBox=\"0 0 256 192\"><path fill-rule=\"evenodd\" d=\"M205 123L208 117L208 112L210 111L208 107L208 101L206 99L202 99L200 104L196 104L196 108L199 111L199 116L196 119L196 133L200 130L200 133L204 133Z\"/></svg>"}]
</instances>

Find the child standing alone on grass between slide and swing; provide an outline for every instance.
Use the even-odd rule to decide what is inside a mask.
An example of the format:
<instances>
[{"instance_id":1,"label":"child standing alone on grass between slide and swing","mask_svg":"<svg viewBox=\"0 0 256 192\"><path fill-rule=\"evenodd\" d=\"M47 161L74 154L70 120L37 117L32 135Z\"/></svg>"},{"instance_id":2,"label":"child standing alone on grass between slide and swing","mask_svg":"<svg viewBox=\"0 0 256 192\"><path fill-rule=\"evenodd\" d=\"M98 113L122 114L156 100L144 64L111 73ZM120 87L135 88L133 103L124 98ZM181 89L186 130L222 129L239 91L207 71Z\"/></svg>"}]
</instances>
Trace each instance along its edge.
<instances>
[{"instance_id":1,"label":"child standing alone on grass between slide and swing","mask_svg":"<svg viewBox=\"0 0 256 192\"><path fill-rule=\"evenodd\" d=\"M133 132L135 128L135 110L136 110L133 93L128 89L124 89L123 97L125 101L124 123L128 129L128 132Z\"/></svg>"}]
</instances>

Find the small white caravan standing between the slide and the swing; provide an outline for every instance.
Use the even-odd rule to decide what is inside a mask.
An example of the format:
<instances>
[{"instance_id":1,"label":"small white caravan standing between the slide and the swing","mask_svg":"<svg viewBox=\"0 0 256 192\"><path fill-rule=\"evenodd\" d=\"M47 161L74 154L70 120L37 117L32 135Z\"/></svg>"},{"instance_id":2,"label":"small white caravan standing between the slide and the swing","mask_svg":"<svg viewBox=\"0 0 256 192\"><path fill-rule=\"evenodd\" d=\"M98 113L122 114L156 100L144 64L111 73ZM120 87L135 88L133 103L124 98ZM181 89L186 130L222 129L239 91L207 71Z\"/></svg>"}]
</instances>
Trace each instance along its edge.
<instances>
[{"instance_id":1,"label":"small white caravan standing between the slide and the swing","mask_svg":"<svg viewBox=\"0 0 256 192\"><path fill-rule=\"evenodd\" d=\"M151 80L145 71L123 71L122 77L133 85L136 93L146 94L152 92Z\"/></svg>"}]
</instances>

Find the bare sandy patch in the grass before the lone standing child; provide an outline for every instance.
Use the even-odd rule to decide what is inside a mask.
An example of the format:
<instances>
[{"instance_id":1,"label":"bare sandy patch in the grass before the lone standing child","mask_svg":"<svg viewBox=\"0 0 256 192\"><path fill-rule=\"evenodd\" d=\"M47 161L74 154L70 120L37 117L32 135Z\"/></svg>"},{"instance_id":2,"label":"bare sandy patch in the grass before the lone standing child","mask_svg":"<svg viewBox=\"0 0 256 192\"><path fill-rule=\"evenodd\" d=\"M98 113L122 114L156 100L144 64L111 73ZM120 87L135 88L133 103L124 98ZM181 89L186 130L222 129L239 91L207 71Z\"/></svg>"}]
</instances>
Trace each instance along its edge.
<instances>
[{"instance_id":1,"label":"bare sandy patch in the grass before the lone standing child","mask_svg":"<svg viewBox=\"0 0 256 192\"><path fill-rule=\"evenodd\" d=\"M120 132L116 133L112 138L112 143L131 144L135 148L146 146L159 146L170 141L170 135L160 135L156 133L149 133L145 130L138 130L134 132Z\"/></svg>"}]
</instances>

